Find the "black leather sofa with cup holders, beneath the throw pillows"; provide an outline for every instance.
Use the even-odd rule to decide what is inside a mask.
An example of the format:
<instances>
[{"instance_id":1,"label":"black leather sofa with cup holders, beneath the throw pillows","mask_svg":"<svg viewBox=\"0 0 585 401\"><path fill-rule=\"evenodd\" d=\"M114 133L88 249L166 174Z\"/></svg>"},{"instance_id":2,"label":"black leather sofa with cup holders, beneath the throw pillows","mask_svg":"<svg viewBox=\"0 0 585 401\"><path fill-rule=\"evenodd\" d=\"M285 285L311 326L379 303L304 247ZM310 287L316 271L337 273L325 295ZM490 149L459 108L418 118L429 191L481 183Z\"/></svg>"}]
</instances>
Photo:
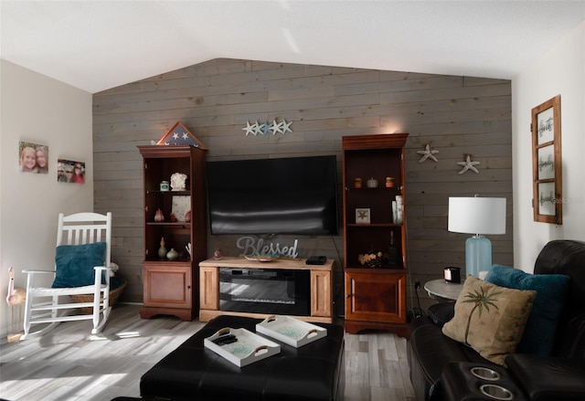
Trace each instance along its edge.
<instances>
[{"instance_id":1,"label":"black leather sofa with cup holders, beneath the throw pillows","mask_svg":"<svg viewBox=\"0 0 585 401\"><path fill-rule=\"evenodd\" d=\"M441 332L453 316L454 302L437 303L428 316L410 323L408 359L417 400L585 400L585 243L550 241L540 251L534 273L570 277L552 353L508 354L505 365L487 361ZM483 367L497 379L472 375L473 367ZM508 393L481 391L497 387Z\"/></svg>"}]
</instances>

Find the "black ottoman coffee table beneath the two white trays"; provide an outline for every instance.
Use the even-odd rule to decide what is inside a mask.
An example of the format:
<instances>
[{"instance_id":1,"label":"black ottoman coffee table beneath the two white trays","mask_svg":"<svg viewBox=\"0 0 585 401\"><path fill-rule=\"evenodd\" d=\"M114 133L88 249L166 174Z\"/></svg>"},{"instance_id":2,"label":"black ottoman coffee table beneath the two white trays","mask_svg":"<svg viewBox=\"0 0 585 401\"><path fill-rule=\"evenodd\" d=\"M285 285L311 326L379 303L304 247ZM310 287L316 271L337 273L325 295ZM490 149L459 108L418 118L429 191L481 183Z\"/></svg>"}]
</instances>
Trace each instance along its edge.
<instances>
[{"instance_id":1,"label":"black ottoman coffee table beneath the two white trays","mask_svg":"<svg viewBox=\"0 0 585 401\"><path fill-rule=\"evenodd\" d=\"M281 353L238 367L207 349L206 337L220 329L244 328L256 332L261 319L222 315L168 354L140 381L143 398L171 401L216 400L343 400L345 390L344 329L327 329L325 338L300 348L280 343Z\"/></svg>"}]
</instances>

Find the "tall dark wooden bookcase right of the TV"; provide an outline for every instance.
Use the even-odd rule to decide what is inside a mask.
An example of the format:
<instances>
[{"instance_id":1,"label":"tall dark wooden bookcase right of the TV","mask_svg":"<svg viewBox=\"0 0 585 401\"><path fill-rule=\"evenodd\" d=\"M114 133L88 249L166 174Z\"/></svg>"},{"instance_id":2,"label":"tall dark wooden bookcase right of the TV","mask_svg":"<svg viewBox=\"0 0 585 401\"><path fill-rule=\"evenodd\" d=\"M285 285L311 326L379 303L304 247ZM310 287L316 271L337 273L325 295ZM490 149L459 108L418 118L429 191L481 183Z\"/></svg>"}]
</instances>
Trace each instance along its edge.
<instances>
[{"instance_id":1,"label":"tall dark wooden bookcase right of the TV","mask_svg":"<svg viewBox=\"0 0 585 401\"><path fill-rule=\"evenodd\" d=\"M407 332L404 145L408 135L342 138L346 332L382 329L402 336ZM386 177L393 178L388 187ZM361 179L361 187L356 178ZM367 185L372 178L378 186ZM397 195L402 196L401 222L392 212ZM391 236L395 261L388 259ZM362 264L359 255L370 253L377 259Z\"/></svg>"}]
</instances>

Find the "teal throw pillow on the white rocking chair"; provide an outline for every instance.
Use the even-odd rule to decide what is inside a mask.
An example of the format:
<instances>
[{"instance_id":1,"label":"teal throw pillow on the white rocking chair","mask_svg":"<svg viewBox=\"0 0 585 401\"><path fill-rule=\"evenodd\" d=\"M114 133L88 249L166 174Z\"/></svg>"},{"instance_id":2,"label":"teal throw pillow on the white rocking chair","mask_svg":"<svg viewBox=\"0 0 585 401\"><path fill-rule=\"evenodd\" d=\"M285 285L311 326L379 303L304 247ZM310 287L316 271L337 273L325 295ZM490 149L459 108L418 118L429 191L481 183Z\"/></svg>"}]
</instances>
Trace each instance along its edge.
<instances>
[{"instance_id":1,"label":"teal throw pillow on the white rocking chair","mask_svg":"<svg viewBox=\"0 0 585 401\"><path fill-rule=\"evenodd\" d=\"M103 266L106 251L105 242L85 245L60 245L55 254L57 272L52 288L70 288L92 285L95 266ZM105 278L101 275L101 283Z\"/></svg>"}]
</instances>

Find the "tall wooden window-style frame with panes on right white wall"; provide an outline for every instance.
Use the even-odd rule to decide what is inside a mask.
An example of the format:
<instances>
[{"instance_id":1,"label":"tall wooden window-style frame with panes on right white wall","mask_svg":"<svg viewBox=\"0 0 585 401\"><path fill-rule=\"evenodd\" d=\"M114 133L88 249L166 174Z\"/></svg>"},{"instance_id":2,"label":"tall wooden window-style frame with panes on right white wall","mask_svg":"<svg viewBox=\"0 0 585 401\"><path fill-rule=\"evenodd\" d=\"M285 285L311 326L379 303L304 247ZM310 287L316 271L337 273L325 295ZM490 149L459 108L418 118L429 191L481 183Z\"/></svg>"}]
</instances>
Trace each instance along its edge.
<instances>
[{"instance_id":1,"label":"tall wooden window-style frame with panes on right white wall","mask_svg":"<svg viewBox=\"0 0 585 401\"><path fill-rule=\"evenodd\" d=\"M560 95L532 109L534 221L563 222Z\"/></svg>"}]
</instances>

